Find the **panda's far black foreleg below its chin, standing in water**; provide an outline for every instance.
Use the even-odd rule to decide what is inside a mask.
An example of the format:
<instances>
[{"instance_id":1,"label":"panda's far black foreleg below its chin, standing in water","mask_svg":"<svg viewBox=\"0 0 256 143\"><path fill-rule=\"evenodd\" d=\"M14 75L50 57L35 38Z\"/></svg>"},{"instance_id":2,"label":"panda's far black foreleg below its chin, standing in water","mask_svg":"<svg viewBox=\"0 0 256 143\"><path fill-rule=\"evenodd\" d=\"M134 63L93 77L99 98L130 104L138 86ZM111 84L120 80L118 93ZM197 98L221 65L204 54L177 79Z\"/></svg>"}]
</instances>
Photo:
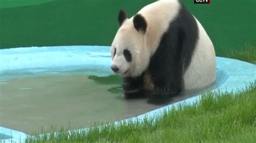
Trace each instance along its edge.
<instances>
[{"instance_id":1,"label":"panda's far black foreleg below its chin, standing in water","mask_svg":"<svg viewBox=\"0 0 256 143\"><path fill-rule=\"evenodd\" d=\"M139 77L126 77L123 79L123 90L126 99L144 98L145 93L143 89L143 78Z\"/></svg>"}]
</instances>

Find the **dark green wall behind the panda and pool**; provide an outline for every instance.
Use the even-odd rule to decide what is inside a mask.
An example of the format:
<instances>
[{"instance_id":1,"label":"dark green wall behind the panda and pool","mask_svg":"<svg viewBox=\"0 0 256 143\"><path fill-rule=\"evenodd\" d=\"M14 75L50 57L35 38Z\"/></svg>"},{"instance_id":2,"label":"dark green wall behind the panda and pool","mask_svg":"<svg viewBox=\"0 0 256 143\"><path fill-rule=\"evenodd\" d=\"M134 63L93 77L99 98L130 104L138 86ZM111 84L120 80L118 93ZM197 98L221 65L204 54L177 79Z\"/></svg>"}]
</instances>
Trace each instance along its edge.
<instances>
[{"instance_id":1,"label":"dark green wall behind the panda and pool","mask_svg":"<svg viewBox=\"0 0 256 143\"><path fill-rule=\"evenodd\" d=\"M3 1L3 0L2 0ZM117 13L129 17L143 1L59 0L43 5L0 9L0 48L56 45L111 45ZM212 1L210 5L183 1L212 38L217 55L241 49L256 39L256 1Z\"/></svg>"}]
</instances>

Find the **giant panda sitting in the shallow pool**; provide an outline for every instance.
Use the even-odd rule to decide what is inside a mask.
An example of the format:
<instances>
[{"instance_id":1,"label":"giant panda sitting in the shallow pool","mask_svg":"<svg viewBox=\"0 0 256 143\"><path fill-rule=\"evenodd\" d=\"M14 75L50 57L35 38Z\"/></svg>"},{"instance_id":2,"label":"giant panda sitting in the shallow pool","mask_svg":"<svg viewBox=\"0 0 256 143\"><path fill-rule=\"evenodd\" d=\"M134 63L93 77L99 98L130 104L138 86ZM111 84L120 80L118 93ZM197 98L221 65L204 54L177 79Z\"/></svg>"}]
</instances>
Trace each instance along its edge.
<instances>
[{"instance_id":1,"label":"giant panda sitting in the shallow pool","mask_svg":"<svg viewBox=\"0 0 256 143\"><path fill-rule=\"evenodd\" d=\"M123 77L127 99L164 104L181 91L215 82L212 41L178 0L156 1L131 18L120 10L118 22L111 69Z\"/></svg>"}]
</instances>

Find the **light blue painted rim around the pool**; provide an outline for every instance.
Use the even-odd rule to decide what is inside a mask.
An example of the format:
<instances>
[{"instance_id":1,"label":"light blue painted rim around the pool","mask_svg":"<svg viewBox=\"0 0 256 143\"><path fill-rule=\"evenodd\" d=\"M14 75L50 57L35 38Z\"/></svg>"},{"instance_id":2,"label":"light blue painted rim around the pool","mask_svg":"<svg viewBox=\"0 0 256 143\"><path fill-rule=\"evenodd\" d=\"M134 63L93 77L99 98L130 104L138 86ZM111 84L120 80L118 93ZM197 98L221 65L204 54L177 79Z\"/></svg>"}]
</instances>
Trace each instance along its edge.
<instances>
[{"instance_id":1,"label":"light blue painted rim around the pool","mask_svg":"<svg viewBox=\"0 0 256 143\"><path fill-rule=\"evenodd\" d=\"M81 54L85 52L87 56ZM56 55L57 54L57 55ZM55 55L55 56L52 56ZM109 46L51 46L51 47L23 47L0 49L0 75L5 71L42 68L42 67L72 67L69 70L79 68L79 66L98 66L100 68L109 68L111 63ZM108 57L108 60L102 60L102 57ZM89 60L86 58L90 58ZM93 59L93 60L92 60ZM227 80L215 90L220 92L237 92L244 89L250 83L256 81L256 65L252 63L217 57L217 68L224 70L228 76ZM51 62L48 62L51 61ZM64 62L65 61L65 62ZM86 61L86 62L85 62ZM111 74L111 73L109 73ZM1 82L1 81L0 81ZM166 109L178 106L181 103L193 104L201 95L185 99L184 101L164 106L137 117L124 119L142 120L145 117L152 118L161 115ZM120 121L115 122L115 124ZM81 130L87 130L84 128ZM10 128L0 126L0 134L4 134L11 139L4 139L5 142L23 142L27 134Z\"/></svg>"}]
</instances>

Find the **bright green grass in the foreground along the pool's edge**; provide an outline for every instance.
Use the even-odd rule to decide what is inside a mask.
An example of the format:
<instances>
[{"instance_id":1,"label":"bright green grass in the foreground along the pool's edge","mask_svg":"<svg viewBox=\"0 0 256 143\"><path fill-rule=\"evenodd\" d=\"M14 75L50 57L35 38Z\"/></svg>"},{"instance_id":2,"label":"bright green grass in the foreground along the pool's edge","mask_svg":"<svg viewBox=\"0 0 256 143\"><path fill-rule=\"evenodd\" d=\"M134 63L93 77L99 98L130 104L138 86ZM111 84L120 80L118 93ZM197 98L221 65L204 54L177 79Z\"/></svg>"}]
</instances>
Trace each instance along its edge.
<instances>
[{"instance_id":1,"label":"bright green grass in the foreground along the pool's edge","mask_svg":"<svg viewBox=\"0 0 256 143\"><path fill-rule=\"evenodd\" d=\"M215 95L214 95L215 94ZM239 94L208 92L193 105L180 104L163 116L89 132L66 132L55 127L48 135L26 142L254 142L256 139L256 83ZM58 131L55 136L53 131Z\"/></svg>"}]
</instances>

